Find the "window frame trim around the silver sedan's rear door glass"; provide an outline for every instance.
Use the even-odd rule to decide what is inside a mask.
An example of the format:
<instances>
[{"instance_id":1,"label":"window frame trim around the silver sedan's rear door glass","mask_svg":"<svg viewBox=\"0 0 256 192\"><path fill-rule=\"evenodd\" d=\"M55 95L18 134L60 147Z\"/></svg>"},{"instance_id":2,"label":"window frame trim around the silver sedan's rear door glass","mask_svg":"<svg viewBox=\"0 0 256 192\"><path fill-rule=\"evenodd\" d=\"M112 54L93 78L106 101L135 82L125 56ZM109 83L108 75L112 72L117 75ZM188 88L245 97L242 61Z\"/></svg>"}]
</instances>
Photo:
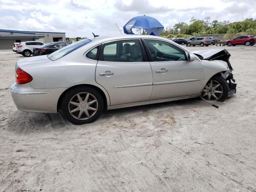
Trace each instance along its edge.
<instances>
[{"instance_id":1,"label":"window frame trim around the silver sedan's rear door glass","mask_svg":"<svg viewBox=\"0 0 256 192\"><path fill-rule=\"evenodd\" d=\"M109 44L109 43L118 42L118 41L129 41L129 40L138 40L139 41L140 47L141 47L141 50L142 50L142 58L143 58L142 62L104 61L104 58L103 58L104 44ZM101 47L100 47L100 53L99 53L99 56L98 56L98 61L100 61L100 62L111 62L111 63L145 63L145 62L149 62L148 56L147 56L146 51L145 51L145 47L144 47L140 38L118 39L118 40L112 40L112 41L102 43Z\"/></svg>"}]
</instances>

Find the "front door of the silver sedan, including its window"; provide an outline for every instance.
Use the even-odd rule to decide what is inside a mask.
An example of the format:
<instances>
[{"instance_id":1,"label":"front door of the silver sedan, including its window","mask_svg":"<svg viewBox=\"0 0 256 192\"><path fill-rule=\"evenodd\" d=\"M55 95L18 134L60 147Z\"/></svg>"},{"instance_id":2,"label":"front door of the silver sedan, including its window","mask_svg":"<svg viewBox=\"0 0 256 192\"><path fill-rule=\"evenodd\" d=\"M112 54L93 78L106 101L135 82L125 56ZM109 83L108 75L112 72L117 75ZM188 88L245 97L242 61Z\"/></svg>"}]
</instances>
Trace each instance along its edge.
<instances>
[{"instance_id":1,"label":"front door of the silver sedan, including its window","mask_svg":"<svg viewBox=\"0 0 256 192\"><path fill-rule=\"evenodd\" d=\"M204 87L200 60L188 61L180 47L160 41L144 41L152 57L153 90L150 100L198 95Z\"/></svg>"}]
</instances>

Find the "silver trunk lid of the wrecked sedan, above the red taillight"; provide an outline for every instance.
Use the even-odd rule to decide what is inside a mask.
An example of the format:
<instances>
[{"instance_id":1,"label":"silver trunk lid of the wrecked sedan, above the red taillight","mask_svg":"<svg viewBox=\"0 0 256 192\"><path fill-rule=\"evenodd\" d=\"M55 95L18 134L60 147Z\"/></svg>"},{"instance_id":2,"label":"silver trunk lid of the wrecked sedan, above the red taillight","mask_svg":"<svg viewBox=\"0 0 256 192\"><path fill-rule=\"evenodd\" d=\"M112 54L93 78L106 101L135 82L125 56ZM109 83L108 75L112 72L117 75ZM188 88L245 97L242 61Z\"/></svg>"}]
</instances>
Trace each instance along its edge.
<instances>
[{"instance_id":1,"label":"silver trunk lid of the wrecked sedan, above the red taillight","mask_svg":"<svg viewBox=\"0 0 256 192\"><path fill-rule=\"evenodd\" d=\"M48 59L47 55L42 56L33 56L28 58L22 58L19 59L16 63L16 69L18 67L24 67L24 66L30 66L30 65L36 65L36 64L46 64L48 62L52 62L52 60Z\"/></svg>"}]
</instances>

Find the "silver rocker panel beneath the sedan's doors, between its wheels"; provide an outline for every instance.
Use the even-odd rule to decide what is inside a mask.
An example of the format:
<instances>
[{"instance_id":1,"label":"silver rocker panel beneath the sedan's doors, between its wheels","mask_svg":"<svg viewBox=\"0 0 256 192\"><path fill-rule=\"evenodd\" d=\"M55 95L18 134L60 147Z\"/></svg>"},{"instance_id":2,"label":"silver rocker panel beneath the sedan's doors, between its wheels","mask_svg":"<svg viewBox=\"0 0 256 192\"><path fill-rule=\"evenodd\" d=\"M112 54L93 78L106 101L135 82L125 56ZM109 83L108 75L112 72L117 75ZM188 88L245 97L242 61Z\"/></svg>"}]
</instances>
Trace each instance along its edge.
<instances>
[{"instance_id":1,"label":"silver rocker panel beneath the sedan's doors, between its wheels","mask_svg":"<svg viewBox=\"0 0 256 192\"><path fill-rule=\"evenodd\" d=\"M126 107L133 107L133 106L140 106L140 105L148 105L148 104L154 104L154 103L169 102L169 101L176 101L176 100L182 100L182 99L195 98L195 97L199 97L199 96L200 96L200 94L190 95L190 96L183 96L183 97L167 98L167 99L158 99L158 100L151 100L151 101L142 101L142 102L136 102L136 103L112 105L112 106L108 106L108 110L126 108Z\"/></svg>"}]
</instances>

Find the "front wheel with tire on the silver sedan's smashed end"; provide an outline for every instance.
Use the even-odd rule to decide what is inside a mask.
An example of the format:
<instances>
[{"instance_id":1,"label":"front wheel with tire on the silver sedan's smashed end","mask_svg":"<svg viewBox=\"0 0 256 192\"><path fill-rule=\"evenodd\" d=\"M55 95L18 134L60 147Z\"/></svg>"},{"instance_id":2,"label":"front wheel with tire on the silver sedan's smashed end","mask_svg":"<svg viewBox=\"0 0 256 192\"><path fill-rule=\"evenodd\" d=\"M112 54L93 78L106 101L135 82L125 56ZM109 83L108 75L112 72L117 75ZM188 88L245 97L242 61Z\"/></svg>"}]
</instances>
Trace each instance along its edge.
<instances>
[{"instance_id":1,"label":"front wheel with tire on the silver sedan's smashed end","mask_svg":"<svg viewBox=\"0 0 256 192\"><path fill-rule=\"evenodd\" d=\"M212 86L211 86L211 82L212 82ZM214 89L214 87L216 88ZM223 102L228 97L228 92L229 92L228 82L222 76L218 75L210 78L210 80L206 83L206 86L204 87L200 97L203 100Z\"/></svg>"}]
</instances>

